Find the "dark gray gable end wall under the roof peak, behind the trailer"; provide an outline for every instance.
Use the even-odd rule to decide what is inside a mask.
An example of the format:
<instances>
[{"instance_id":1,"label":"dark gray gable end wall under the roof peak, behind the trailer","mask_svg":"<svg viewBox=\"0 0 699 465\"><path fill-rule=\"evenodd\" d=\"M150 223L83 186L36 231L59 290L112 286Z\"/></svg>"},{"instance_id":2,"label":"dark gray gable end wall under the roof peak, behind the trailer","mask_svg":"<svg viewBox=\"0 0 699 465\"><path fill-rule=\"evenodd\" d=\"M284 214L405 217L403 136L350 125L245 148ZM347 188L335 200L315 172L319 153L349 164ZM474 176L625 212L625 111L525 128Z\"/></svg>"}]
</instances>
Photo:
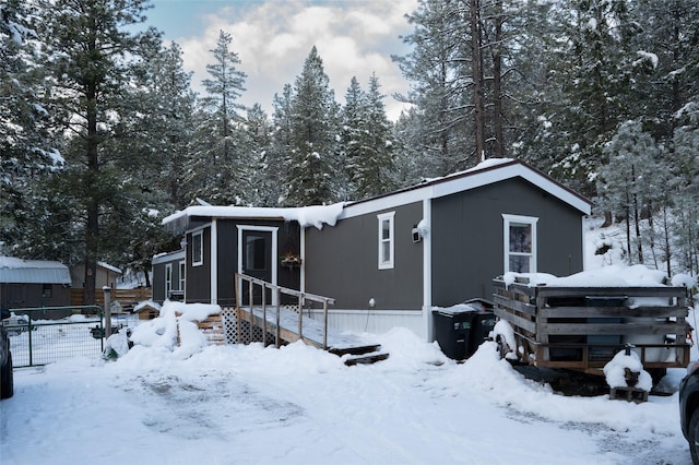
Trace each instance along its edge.
<instances>
[{"instance_id":1,"label":"dark gray gable end wall under the roof peak, behind the trailer","mask_svg":"<svg viewBox=\"0 0 699 465\"><path fill-rule=\"evenodd\" d=\"M582 214L516 178L433 201L433 302L491 298L503 272L502 214L537 217L537 271L582 271Z\"/></svg>"}]
</instances>

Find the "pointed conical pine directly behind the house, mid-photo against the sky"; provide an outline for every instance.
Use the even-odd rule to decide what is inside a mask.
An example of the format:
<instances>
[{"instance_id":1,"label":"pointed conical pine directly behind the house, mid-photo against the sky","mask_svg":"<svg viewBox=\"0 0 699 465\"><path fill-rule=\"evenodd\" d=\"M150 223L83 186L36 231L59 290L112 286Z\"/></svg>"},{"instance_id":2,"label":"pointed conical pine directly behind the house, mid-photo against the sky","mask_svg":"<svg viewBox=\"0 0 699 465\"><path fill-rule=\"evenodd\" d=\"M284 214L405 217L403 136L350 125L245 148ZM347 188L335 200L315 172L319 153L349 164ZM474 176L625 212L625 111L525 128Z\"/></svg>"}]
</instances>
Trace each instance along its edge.
<instances>
[{"instance_id":1,"label":"pointed conical pine directly behind the house, mid-photo against the sky","mask_svg":"<svg viewBox=\"0 0 699 465\"><path fill-rule=\"evenodd\" d=\"M337 105L323 62L313 46L296 78L286 158L286 205L325 204L336 200L339 172L335 130Z\"/></svg>"}]
</instances>

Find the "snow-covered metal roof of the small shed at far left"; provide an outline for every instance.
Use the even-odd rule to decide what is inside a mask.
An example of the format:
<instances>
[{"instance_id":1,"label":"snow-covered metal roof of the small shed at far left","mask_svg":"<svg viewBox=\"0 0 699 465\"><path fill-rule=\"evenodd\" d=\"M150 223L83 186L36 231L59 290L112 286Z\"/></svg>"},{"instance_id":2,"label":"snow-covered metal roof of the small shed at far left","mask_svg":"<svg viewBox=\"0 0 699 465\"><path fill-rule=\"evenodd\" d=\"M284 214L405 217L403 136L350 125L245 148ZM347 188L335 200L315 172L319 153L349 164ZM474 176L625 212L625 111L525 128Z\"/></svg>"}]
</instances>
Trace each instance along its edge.
<instances>
[{"instance_id":1,"label":"snow-covered metal roof of the small shed at far left","mask_svg":"<svg viewBox=\"0 0 699 465\"><path fill-rule=\"evenodd\" d=\"M0 257L0 283L67 284L70 271L60 262Z\"/></svg>"}]
</instances>

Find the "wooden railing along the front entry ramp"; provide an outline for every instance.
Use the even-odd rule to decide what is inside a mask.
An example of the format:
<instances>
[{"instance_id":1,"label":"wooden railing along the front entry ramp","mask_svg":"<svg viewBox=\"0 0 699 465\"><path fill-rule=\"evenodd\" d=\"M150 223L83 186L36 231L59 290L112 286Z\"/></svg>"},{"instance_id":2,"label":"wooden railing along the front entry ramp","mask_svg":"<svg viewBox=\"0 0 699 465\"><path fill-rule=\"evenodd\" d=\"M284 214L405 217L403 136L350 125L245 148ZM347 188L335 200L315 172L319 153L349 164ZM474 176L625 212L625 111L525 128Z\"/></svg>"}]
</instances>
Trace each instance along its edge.
<instances>
[{"instance_id":1,"label":"wooden railing along the front entry ramp","mask_svg":"<svg viewBox=\"0 0 699 465\"><path fill-rule=\"evenodd\" d=\"M275 344L279 347L280 346L280 330L281 330L281 322L280 322L280 315L281 315L281 308L282 308L282 295L286 295L286 296L292 296L294 298L297 299L298 301L298 322L297 322L297 330L296 333L298 335L299 338L304 338L304 305L305 302L311 301L311 302L317 302L322 305L323 308L323 342L322 342L322 348L327 349L328 348L328 306L329 305L334 305L335 300L330 298L330 297L323 297L323 296L318 296L315 294L310 294L310 293L304 293L300 290L296 290L296 289L289 289L286 287L282 287L282 286L277 286L275 284L271 284L268 283L262 279L258 279L257 277L252 277L252 276L248 276L245 274L240 274L240 273L236 273L236 310L238 312L238 318L240 318L240 310L244 309L245 307L249 307L250 308L250 317L251 320L253 319L253 307L260 308L262 310L262 334L266 334L268 333L268 326L266 326L266 310L268 307L272 307L276 314L275 314ZM244 290L244 286L248 286L248 305L246 306L245 302L242 301L242 290ZM256 303L254 300L254 289L256 286L259 287L261 289L261 297L260 297L260 303L258 306L258 303ZM271 296L272 296L272 301L268 302L268 298L266 298L266 289L270 289L271 291ZM252 297L252 299L251 299ZM240 329L240 324L237 324L237 339L241 341L241 329Z\"/></svg>"}]
</instances>

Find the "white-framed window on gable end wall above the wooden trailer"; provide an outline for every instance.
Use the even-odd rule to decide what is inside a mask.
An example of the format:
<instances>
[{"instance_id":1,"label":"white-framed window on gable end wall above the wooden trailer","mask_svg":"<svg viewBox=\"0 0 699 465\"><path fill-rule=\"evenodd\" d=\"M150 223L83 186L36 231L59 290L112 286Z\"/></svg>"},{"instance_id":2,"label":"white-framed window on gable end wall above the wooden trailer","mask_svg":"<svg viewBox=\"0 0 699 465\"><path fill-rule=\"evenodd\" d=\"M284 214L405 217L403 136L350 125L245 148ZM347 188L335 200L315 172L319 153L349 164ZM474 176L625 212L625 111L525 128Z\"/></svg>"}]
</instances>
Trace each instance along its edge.
<instances>
[{"instance_id":1,"label":"white-framed window on gable end wall above the wooden trailer","mask_svg":"<svg viewBox=\"0 0 699 465\"><path fill-rule=\"evenodd\" d=\"M502 214L505 272L536 273L536 223L533 216Z\"/></svg>"}]
</instances>

